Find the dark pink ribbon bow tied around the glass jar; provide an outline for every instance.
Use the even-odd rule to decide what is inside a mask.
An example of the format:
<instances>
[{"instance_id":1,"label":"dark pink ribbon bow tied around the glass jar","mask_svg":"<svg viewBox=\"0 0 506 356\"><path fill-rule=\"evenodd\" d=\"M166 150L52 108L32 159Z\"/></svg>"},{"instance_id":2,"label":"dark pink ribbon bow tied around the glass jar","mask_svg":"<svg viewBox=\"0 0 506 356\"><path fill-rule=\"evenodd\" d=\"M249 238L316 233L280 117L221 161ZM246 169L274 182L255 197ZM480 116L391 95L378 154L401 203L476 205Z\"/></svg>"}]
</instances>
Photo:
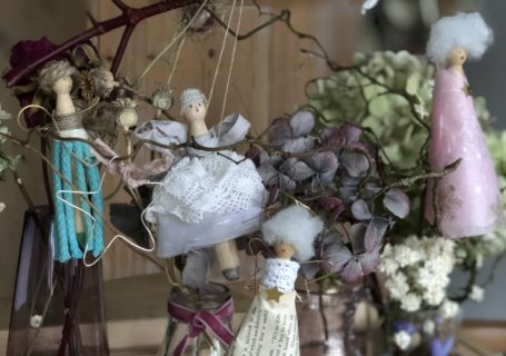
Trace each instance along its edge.
<instances>
[{"instance_id":1,"label":"dark pink ribbon bow tied around the glass jar","mask_svg":"<svg viewBox=\"0 0 506 356\"><path fill-rule=\"evenodd\" d=\"M188 340L196 337L205 329L209 329L222 344L229 346L234 340L234 334L225 324L234 314L234 300L231 297L216 312L192 310L180 304L169 300L168 312L175 319L188 324L188 334L173 350L175 356L181 356L188 346Z\"/></svg>"}]
</instances>

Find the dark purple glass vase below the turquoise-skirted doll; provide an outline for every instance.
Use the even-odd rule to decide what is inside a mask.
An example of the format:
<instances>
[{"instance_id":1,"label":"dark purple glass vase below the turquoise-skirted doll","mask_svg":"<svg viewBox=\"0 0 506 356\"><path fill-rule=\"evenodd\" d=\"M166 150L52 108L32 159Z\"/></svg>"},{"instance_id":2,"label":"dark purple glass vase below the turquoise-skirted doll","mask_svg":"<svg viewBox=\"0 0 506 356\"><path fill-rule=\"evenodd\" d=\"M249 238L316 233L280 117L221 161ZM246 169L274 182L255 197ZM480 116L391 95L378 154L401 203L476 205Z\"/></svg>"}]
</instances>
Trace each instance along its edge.
<instances>
[{"instance_id":1,"label":"dark purple glass vase below the turquoise-skirted doll","mask_svg":"<svg viewBox=\"0 0 506 356\"><path fill-rule=\"evenodd\" d=\"M101 264L53 260L48 207L27 211L8 356L109 355Z\"/></svg>"}]
</instances>

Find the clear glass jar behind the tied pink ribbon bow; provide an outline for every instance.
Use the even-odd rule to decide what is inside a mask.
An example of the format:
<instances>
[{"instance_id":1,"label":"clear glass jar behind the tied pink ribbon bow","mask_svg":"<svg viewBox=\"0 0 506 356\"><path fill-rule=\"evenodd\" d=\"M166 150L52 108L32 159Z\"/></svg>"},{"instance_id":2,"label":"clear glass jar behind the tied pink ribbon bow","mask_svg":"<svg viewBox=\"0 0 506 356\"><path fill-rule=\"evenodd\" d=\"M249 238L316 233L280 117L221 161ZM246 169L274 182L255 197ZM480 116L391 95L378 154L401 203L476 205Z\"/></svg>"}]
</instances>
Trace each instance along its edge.
<instances>
[{"instance_id":1,"label":"clear glass jar behind the tied pink ribbon bow","mask_svg":"<svg viewBox=\"0 0 506 356\"><path fill-rule=\"evenodd\" d=\"M217 313L227 303L231 303L230 289L224 285L210 284L209 287L197 294L188 289L172 287L169 297L169 323L165 335L163 343L161 344L158 355L172 356L176 355L175 350L180 347L180 344L187 338L186 347L179 355L185 356L224 356L228 350L228 346L219 340L219 338L209 329L205 327L201 332L192 335L190 332L190 324L200 323L198 320L182 322L177 317L170 315L170 304L176 304L190 310L191 314L197 315L199 312L206 310ZM231 309L234 310L234 309ZM231 317L234 312L229 313L229 317L222 319L224 324L231 329Z\"/></svg>"}]
</instances>

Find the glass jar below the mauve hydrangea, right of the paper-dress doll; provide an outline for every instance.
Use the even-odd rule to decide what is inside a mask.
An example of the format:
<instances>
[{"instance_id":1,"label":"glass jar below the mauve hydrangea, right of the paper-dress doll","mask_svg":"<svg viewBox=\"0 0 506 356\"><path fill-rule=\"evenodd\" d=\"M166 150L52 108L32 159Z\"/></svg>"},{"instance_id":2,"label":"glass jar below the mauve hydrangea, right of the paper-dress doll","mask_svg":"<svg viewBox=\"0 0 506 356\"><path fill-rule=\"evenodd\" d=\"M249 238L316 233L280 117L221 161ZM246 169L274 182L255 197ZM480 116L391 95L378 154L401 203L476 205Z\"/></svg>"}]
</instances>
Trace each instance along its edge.
<instances>
[{"instance_id":1,"label":"glass jar below the mauve hydrangea, right of the paper-dress doll","mask_svg":"<svg viewBox=\"0 0 506 356\"><path fill-rule=\"evenodd\" d=\"M343 285L335 291L298 290L297 304L301 356L363 355L363 336L355 330L355 313L367 297L364 287Z\"/></svg>"}]
</instances>

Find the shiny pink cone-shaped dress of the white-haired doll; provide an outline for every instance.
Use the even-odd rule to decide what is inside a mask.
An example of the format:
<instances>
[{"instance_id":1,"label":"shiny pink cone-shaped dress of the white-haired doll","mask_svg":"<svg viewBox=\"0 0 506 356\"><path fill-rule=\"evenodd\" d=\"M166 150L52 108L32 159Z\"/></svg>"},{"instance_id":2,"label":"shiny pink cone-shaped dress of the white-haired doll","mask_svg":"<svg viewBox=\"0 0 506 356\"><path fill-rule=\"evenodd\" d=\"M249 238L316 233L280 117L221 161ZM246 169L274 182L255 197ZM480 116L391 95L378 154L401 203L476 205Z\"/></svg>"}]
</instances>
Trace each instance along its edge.
<instances>
[{"instance_id":1,"label":"shiny pink cone-shaped dress of the white-haired doll","mask_svg":"<svg viewBox=\"0 0 506 356\"><path fill-rule=\"evenodd\" d=\"M500 214L500 192L494 162L485 144L466 77L439 69L433 99L430 169L443 170L458 158L457 169L429 180L425 216L444 237L459 238L492 231ZM435 199L433 200L433 191Z\"/></svg>"}]
</instances>

